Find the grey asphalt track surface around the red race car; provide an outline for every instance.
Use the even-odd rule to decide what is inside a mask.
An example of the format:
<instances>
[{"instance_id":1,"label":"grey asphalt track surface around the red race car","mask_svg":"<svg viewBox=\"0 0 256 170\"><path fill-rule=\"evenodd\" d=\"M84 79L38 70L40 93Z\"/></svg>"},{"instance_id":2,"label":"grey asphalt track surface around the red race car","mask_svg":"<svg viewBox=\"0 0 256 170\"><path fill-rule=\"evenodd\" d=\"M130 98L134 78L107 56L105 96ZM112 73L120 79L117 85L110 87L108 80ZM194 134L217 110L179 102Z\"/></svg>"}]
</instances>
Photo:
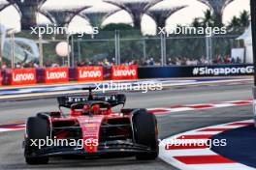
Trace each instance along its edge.
<instances>
[{"instance_id":1,"label":"grey asphalt track surface around the red race car","mask_svg":"<svg viewBox=\"0 0 256 170\"><path fill-rule=\"evenodd\" d=\"M232 86L188 87L147 94L127 94L126 107L164 107L176 104L197 104L216 101L251 99L251 84ZM25 120L40 111L57 109L55 99L0 103L0 124ZM166 113L157 116L160 138L193 128L203 128L237 120L251 119L251 106ZM114 159L51 159L48 165L29 166L21 149L22 130L0 134L0 169L175 169L162 160L135 161L133 157Z\"/></svg>"}]
</instances>

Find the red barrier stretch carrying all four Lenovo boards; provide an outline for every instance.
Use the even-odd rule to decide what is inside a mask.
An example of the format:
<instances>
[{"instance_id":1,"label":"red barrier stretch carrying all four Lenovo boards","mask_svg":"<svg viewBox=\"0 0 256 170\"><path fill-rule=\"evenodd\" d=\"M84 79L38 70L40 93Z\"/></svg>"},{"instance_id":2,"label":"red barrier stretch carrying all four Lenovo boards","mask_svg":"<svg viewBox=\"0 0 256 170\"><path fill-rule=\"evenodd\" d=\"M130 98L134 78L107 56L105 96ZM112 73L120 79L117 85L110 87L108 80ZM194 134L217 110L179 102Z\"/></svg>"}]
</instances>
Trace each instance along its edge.
<instances>
[{"instance_id":1,"label":"red barrier stretch carrying all four Lenovo boards","mask_svg":"<svg viewBox=\"0 0 256 170\"><path fill-rule=\"evenodd\" d=\"M137 66L89 66L79 68L5 69L0 71L3 85L64 83L69 81L101 81L137 79Z\"/></svg>"}]
</instances>

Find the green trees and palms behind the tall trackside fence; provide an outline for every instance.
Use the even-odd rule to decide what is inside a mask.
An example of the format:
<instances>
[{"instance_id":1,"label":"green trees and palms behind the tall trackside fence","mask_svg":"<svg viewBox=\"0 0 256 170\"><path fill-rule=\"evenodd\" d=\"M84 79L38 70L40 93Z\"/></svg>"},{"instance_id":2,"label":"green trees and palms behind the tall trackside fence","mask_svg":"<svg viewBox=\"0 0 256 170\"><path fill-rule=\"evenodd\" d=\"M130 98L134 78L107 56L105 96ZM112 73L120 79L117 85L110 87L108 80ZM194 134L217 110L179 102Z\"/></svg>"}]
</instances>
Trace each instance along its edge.
<instances>
[{"instance_id":1,"label":"green trees and palms behind the tall trackside fence","mask_svg":"<svg viewBox=\"0 0 256 170\"><path fill-rule=\"evenodd\" d=\"M213 36L212 56L230 54L231 48L235 44L235 39L249 25L248 12L242 12L240 16L234 16L227 27L228 34L222 37ZM191 23L193 27L215 27L223 26L219 23L216 16L210 11L206 11L203 17L197 17ZM86 35L82 38L74 37L75 60L97 59L99 56L106 56L110 61L115 55L114 30L119 30L120 36L120 56L121 62L131 61L133 59L141 60L144 58L144 48L146 59L154 58L160 61L161 42L159 35L143 36L140 30L135 30L131 25L124 23L111 23L100 30L95 36ZM206 37L202 35L171 35L167 38L167 58L187 57L201 58L206 57ZM145 44L145 46L144 46ZM79 47L80 45L80 47ZM80 51L79 51L80 49ZM47 60L60 60L54 54L54 46L44 45L44 55Z\"/></svg>"}]
</instances>

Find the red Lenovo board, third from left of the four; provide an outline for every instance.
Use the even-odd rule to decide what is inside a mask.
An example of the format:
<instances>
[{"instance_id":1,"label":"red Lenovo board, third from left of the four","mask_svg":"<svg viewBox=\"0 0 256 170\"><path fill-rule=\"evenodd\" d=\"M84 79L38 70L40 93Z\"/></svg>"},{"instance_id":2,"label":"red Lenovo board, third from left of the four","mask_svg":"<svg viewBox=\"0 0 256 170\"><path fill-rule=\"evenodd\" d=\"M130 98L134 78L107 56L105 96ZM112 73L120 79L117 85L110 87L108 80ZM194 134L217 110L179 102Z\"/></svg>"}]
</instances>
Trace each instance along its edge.
<instances>
[{"instance_id":1,"label":"red Lenovo board, third from left of the four","mask_svg":"<svg viewBox=\"0 0 256 170\"><path fill-rule=\"evenodd\" d=\"M103 67L80 67L77 71L78 81L103 80Z\"/></svg>"}]
</instances>

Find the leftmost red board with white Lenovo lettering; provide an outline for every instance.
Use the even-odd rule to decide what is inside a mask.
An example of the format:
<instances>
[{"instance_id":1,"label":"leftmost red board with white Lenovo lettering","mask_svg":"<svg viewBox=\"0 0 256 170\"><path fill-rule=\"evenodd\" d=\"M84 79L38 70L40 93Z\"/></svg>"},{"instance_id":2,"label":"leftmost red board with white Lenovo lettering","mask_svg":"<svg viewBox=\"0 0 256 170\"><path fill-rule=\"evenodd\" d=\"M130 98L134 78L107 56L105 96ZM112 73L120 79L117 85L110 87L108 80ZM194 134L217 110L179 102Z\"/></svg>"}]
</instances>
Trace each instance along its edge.
<instances>
[{"instance_id":1,"label":"leftmost red board with white Lenovo lettering","mask_svg":"<svg viewBox=\"0 0 256 170\"><path fill-rule=\"evenodd\" d=\"M12 70L12 85L28 85L36 84L36 70L35 69L14 69Z\"/></svg>"}]
</instances>

